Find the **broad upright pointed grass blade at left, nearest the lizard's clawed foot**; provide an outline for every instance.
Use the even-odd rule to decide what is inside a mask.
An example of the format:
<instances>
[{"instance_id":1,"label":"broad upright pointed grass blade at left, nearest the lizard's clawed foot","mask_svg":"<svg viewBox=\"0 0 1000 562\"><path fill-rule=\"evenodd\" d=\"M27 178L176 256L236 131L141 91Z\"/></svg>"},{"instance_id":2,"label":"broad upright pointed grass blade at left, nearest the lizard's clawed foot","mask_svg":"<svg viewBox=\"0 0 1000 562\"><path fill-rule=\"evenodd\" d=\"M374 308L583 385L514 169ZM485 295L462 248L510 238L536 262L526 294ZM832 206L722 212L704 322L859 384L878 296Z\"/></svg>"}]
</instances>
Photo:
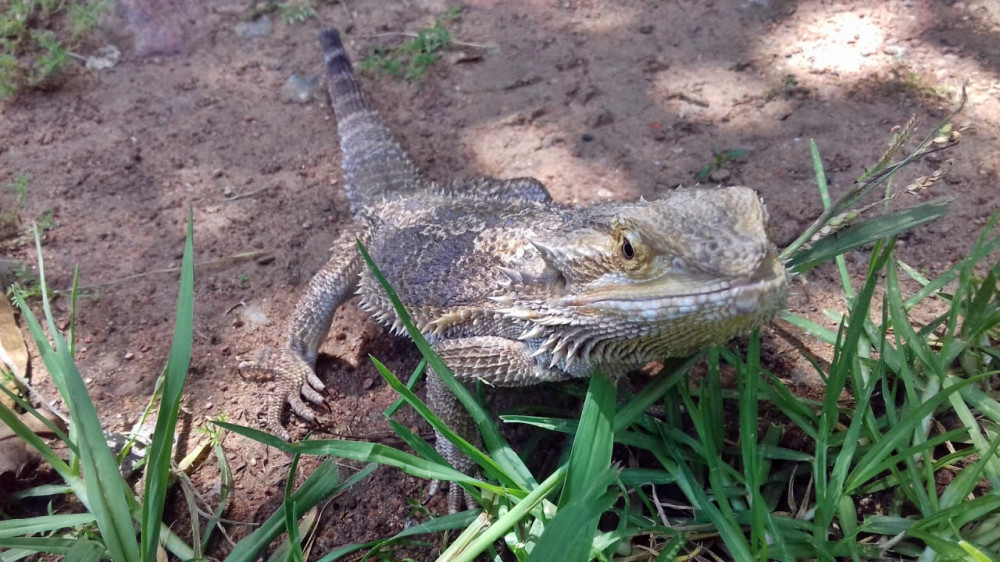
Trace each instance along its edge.
<instances>
[{"instance_id":1,"label":"broad upright pointed grass blade at left, nearest the lizard's clawed foot","mask_svg":"<svg viewBox=\"0 0 1000 562\"><path fill-rule=\"evenodd\" d=\"M181 262L181 286L177 297L177 320L164 375L160 413L156 418L153 442L146 463L146 487L142 505L142 559L156 560L160 523L170 479L170 458L174 428L181 406L184 381L191 364L191 341L194 325L194 226L188 210L187 237Z\"/></svg>"}]
</instances>

